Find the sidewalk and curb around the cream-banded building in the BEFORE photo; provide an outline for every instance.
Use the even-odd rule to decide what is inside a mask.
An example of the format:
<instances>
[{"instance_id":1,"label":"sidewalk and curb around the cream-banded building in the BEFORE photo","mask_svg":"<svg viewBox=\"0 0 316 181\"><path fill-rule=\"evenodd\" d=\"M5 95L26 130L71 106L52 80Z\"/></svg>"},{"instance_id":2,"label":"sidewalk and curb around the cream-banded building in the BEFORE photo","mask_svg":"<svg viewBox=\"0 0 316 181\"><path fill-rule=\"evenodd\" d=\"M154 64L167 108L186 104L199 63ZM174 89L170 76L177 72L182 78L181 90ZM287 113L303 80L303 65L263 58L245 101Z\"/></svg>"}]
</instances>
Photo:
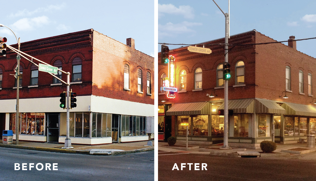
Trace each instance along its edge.
<instances>
[{"instance_id":1,"label":"sidewalk and curb around the cream-banded building in the BEFORE photo","mask_svg":"<svg viewBox=\"0 0 316 181\"><path fill-rule=\"evenodd\" d=\"M92 154L92 155L121 155L135 152L145 152L154 150L154 140L152 140L153 146L147 146L147 141L139 141L132 143L113 143L106 145L74 145L74 148L62 149L64 144L58 143L37 143L19 141L19 145L15 145L15 141L11 145L2 144L0 140L0 147L5 148L18 148L26 150L38 150L46 152L60 152L60 153L78 153L78 154Z\"/></svg>"}]
</instances>

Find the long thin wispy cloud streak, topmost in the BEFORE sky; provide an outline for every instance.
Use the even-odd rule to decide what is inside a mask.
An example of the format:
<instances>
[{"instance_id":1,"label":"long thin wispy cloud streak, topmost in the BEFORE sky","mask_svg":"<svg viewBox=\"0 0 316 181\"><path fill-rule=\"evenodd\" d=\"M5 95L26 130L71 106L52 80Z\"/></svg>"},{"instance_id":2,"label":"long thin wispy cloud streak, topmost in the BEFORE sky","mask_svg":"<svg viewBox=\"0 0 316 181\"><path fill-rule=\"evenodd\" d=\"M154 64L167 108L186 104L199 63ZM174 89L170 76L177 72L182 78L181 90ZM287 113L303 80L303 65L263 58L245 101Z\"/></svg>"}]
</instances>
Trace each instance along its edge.
<instances>
[{"instance_id":1,"label":"long thin wispy cloud streak, topmost in the BEFORE sky","mask_svg":"<svg viewBox=\"0 0 316 181\"><path fill-rule=\"evenodd\" d=\"M11 13L9 15L10 18L19 17L19 16L32 16L33 14L40 13L40 12L49 12L53 10L62 10L66 7L66 3L58 4L58 5L47 5L45 8L37 8L36 10L29 11L27 9L20 10L17 13Z\"/></svg>"}]
</instances>

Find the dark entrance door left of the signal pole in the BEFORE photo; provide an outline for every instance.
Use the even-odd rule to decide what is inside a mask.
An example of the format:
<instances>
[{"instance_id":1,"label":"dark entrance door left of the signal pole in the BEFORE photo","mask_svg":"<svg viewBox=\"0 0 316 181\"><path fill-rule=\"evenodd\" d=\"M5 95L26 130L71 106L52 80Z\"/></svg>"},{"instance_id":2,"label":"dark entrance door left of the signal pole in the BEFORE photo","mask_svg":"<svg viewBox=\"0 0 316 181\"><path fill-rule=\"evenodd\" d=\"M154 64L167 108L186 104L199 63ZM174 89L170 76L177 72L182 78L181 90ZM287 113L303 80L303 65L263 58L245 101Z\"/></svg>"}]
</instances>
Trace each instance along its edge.
<instances>
[{"instance_id":1,"label":"dark entrance door left of the signal pole in the BEFORE photo","mask_svg":"<svg viewBox=\"0 0 316 181\"><path fill-rule=\"evenodd\" d=\"M59 114L49 113L47 115L47 142L58 143L59 138Z\"/></svg>"}]
</instances>

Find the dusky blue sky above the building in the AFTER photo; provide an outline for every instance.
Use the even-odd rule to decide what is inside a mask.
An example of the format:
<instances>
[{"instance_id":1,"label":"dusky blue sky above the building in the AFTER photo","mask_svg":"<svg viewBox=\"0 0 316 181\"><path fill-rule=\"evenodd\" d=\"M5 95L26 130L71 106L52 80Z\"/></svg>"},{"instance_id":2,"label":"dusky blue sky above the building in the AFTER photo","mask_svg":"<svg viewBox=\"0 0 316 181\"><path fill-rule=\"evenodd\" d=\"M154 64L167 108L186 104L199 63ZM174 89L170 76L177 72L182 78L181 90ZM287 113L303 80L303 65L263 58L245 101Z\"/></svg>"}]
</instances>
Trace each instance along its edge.
<instances>
[{"instance_id":1,"label":"dusky blue sky above the building in the AFTER photo","mask_svg":"<svg viewBox=\"0 0 316 181\"><path fill-rule=\"evenodd\" d=\"M215 2L228 13L228 0ZM289 36L316 37L315 7L315 0L231 0L230 35L256 29L276 41L287 41ZM195 44L224 36L225 16L212 0L158 0L158 43ZM315 46L316 39L296 45L297 50L316 58Z\"/></svg>"}]
</instances>

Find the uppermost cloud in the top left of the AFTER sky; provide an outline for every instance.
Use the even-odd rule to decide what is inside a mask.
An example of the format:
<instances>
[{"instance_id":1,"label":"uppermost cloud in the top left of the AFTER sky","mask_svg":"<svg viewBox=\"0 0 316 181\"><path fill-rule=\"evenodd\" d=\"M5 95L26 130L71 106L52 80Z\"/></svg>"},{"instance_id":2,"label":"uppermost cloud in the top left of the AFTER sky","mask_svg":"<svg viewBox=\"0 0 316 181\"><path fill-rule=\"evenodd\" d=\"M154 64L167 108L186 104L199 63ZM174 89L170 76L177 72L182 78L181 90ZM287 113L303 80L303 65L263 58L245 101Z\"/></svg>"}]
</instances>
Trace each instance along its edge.
<instances>
[{"instance_id":1,"label":"uppermost cloud in the top left of the AFTER sky","mask_svg":"<svg viewBox=\"0 0 316 181\"><path fill-rule=\"evenodd\" d=\"M189 5L182 5L177 8L173 4L158 4L158 18L164 14L182 15L185 18L194 18L194 9Z\"/></svg>"}]
</instances>

